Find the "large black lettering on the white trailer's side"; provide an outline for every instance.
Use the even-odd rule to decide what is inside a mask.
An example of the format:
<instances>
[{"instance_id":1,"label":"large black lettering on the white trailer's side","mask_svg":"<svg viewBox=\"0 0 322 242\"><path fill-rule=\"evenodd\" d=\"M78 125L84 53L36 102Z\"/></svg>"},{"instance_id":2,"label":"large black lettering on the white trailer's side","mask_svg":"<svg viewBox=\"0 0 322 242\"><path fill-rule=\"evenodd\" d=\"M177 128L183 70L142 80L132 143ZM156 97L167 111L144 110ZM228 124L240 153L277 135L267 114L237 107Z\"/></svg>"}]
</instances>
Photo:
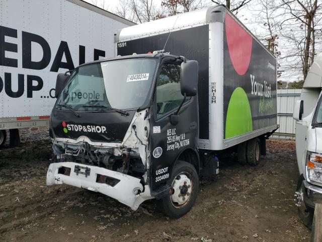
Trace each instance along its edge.
<instances>
[{"instance_id":1,"label":"large black lettering on the white trailer's side","mask_svg":"<svg viewBox=\"0 0 322 242\"><path fill-rule=\"evenodd\" d=\"M43 70L47 68L53 58L50 66L50 72L58 72L59 69L73 70L75 68L71 53L69 50L68 43L66 41L60 41L60 44L55 52L52 52L53 48L50 47L49 43L45 38L40 35L22 31L21 42L22 42L22 53L21 60L18 58L9 58L8 52L18 53L18 44L14 41L7 40L7 37L17 38L18 30L0 26L0 39L2 39L3 48L0 51L0 66L10 68L20 68L18 63L22 63L22 68L30 70ZM37 44L38 48L32 48ZM39 50L42 52L39 58ZM78 63L85 63L85 50L86 47L79 45ZM34 61L34 57L37 56L37 60ZM94 49L94 60L99 59L100 56L105 57L105 51L100 49ZM66 61L64 61L64 59ZM16 82L17 77L13 77L12 73L5 72L4 76L0 76L0 93L4 92L11 98L19 98L25 93L25 86L27 88L27 98L33 98L34 92L42 90L44 86L43 78L35 75L18 74L18 90L13 91L12 83ZM25 85L25 82L27 85ZM54 86L54 80L52 82ZM4 88L5 87L5 88ZM43 93L40 98L55 98L54 88L49 90L49 93Z\"/></svg>"}]
</instances>

